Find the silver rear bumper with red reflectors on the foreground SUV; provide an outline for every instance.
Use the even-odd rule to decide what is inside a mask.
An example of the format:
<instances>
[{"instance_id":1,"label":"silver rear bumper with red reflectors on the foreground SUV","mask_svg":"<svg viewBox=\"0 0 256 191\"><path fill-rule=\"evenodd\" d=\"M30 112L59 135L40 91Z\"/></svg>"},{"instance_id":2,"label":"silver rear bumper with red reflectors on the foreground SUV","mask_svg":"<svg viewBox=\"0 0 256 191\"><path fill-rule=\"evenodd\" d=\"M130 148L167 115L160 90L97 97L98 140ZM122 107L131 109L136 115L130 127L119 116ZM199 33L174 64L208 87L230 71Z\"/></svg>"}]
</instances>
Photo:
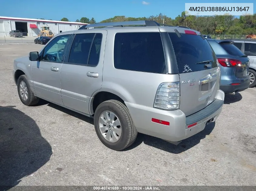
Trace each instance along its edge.
<instances>
[{"instance_id":1,"label":"silver rear bumper with red reflectors on the foreground SUV","mask_svg":"<svg viewBox=\"0 0 256 191\"><path fill-rule=\"evenodd\" d=\"M187 117L181 110L167 111L133 103L125 104L138 132L177 142L197 134L208 122L214 122L218 118L224 103L224 92L219 90L215 98L216 100L203 110ZM152 118L168 121L170 125L152 122ZM192 123L196 124L188 128Z\"/></svg>"}]
</instances>

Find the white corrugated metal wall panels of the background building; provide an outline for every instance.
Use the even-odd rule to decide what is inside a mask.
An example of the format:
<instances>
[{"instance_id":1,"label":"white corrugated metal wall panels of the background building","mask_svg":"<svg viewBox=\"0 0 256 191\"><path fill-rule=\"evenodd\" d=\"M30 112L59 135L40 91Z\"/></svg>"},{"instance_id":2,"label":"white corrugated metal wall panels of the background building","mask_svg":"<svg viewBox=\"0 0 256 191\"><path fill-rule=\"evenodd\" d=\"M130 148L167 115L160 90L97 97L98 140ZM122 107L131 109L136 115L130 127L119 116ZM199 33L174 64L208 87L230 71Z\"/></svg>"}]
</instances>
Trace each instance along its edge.
<instances>
[{"instance_id":1,"label":"white corrugated metal wall panels of the background building","mask_svg":"<svg viewBox=\"0 0 256 191\"><path fill-rule=\"evenodd\" d=\"M47 23L47 22L37 22L37 21L23 21L23 20L7 20L7 19L1 19L4 23L4 31L5 36L9 36L9 32L11 30L16 30L15 22L26 22L28 27L28 36L29 37L37 37L40 33L41 27L50 27L50 30L54 34L58 34L60 31L70 31L70 30L78 30L80 27L80 24L64 24L64 23ZM32 29L30 28L30 24L37 25L38 28ZM71 26L70 26L71 25Z\"/></svg>"}]
</instances>

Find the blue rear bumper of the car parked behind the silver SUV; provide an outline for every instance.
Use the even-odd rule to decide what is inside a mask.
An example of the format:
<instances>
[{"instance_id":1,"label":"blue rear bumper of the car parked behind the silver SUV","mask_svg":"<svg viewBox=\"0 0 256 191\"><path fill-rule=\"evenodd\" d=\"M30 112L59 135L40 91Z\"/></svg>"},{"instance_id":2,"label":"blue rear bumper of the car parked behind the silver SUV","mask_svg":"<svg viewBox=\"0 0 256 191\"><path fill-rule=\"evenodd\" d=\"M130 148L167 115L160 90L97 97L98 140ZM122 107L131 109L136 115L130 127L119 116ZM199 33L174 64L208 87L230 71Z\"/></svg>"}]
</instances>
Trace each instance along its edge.
<instances>
[{"instance_id":1,"label":"blue rear bumper of the car parked behind the silver SUV","mask_svg":"<svg viewBox=\"0 0 256 191\"><path fill-rule=\"evenodd\" d=\"M249 88L250 85L250 78L238 78L236 81L232 82L233 83L239 83L239 85L221 85L220 89L225 93L233 93L233 92L239 92L243 91L247 88Z\"/></svg>"}]
</instances>

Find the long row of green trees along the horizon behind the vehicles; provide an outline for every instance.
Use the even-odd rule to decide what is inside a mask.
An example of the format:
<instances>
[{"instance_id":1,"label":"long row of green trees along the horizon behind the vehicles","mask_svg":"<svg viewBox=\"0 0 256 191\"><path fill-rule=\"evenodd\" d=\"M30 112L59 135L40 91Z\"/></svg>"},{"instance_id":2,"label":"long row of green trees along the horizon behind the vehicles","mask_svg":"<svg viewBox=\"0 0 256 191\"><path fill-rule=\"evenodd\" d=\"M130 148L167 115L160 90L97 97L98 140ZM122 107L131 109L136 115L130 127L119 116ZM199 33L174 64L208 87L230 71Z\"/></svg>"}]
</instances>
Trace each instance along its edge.
<instances>
[{"instance_id":1,"label":"long row of green trees along the horizon behind the vehicles","mask_svg":"<svg viewBox=\"0 0 256 191\"><path fill-rule=\"evenodd\" d=\"M115 16L105 19L101 22L118 22L118 21L140 21L152 20L160 24L172 26L187 26L197 30L202 34L233 34L233 35L248 35L256 33L256 13L253 15L243 15L239 18L234 18L233 15L214 15L214 16L194 16L186 15L183 11L175 19L160 13L149 17L125 17L124 15Z\"/></svg>"}]
</instances>

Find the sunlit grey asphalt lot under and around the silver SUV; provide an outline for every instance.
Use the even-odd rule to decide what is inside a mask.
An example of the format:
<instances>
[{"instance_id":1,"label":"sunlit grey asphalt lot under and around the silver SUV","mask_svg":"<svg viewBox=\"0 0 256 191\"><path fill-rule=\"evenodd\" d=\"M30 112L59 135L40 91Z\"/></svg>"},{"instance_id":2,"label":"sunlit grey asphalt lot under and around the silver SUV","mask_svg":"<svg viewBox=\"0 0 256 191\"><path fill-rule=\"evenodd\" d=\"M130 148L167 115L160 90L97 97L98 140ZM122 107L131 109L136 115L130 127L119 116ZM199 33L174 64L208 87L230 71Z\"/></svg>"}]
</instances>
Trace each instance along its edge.
<instances>
[{"instance_id":1,"label":"sunlit grey asphalt lot under and around the silver SUV","mask_svg":"<svg viewBox=\"0 0 256 191\"><path fill-rule=\"evenodd\" d=\"M92 119L21 103L13 60L43 46L0 43L0 185L256 185L256 88L227 95L217 121L178 146L139 134L113 151Z\"/></svg>"}]
</instances>

